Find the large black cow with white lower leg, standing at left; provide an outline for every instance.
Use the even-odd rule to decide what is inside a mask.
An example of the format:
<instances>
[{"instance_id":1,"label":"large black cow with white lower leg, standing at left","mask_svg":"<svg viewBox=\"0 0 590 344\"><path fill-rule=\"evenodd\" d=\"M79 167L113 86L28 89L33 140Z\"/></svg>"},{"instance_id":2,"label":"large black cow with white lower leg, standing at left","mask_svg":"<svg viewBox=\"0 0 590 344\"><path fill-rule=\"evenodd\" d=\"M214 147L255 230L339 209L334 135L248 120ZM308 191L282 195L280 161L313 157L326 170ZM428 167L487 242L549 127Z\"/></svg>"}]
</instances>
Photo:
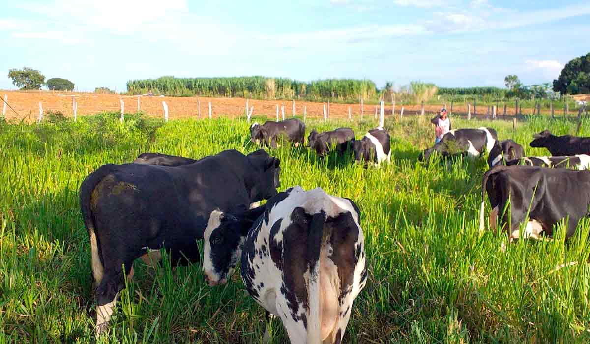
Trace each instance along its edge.
<instances>
[{"instance_id":1,"label":"large black cow with white lower leg, standing at left","mask_svg":"<svg viewBox=\"0 0 590 344\"><path fill-rule=\"evenodd\" d=\"M109 164L90 173L80 186L80 208L90 237L97 333L136 258L153 266L164 247L172 264L198 261L195 241L211 211L243 212L271 198L279 173L279 160L262 149L248 156L224 150L181 166Z\"/></svg>"}]
</instances>

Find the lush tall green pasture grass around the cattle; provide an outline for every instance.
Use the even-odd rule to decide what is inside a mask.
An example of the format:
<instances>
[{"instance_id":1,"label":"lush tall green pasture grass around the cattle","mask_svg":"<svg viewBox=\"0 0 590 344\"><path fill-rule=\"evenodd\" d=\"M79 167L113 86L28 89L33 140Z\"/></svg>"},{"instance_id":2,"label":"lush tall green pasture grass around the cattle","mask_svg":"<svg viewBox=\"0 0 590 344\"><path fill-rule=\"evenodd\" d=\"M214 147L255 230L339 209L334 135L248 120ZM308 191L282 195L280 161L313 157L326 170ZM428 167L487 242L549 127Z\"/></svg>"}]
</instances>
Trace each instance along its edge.
<instances>
[{"instance_id":1,"label":"lush tall green pasture grass around the cattle","mask_svg":"<svg viewBox=\"0 0 590 344\"><path fill-rule=\"evenodd\" d=\"M307 132L350 125L361 137L375 121L308 121ZM418 163L434 142L432 125L418 116L385 126L392 161L379 169L289 145L271 150L281 160L283 188L320 186L360 207L369 281L353 304L345 342L588 342L590 223L568 244L558 234L500 251L505 235L478 231L486 161ZM576 123L541 117L519 122L513 133L512 123L453 119L455 129L479 126L515 139L527 155L548 155L528 146L533 133L572 133ZM581 135L590 136L590 122ZM201 158L224 149L256 149L244 119L165 124L134 114L122 124L105 113L76 123L0 124L0 342L94 340L90 245L77 193L85 176L142 152ZM263 309L238 273L209 287L200 264L172 270L165 261L154 270L137 261L135 271L99 342L261 341ZM271 327L274 343L287 341L278 319Z\"/></svg>"}]
</instances>

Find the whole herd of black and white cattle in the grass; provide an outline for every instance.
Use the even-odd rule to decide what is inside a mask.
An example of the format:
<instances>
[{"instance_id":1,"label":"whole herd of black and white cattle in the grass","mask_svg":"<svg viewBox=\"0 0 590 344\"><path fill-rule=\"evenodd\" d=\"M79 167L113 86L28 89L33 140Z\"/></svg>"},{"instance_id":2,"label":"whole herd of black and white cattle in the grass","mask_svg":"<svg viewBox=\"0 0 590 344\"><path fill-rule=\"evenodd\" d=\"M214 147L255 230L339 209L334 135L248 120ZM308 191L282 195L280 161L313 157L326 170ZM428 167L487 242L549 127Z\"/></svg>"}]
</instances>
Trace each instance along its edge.
<instances>
[{"instance_id":1,"label":"whole herd of black and white cattle in the grass","mask_svg":"<svg viewBox=\"0 0 590 344\"><path fill-rule=\"evenodd\" d=\"M271 148L284 140L297 147L305 142L305 125L297 119L254 123L250 135L252 142ZM389 133L382 127L361 140L349 128L312 130L307 142L319 156L352 150L365 166L391 158ZM538 237L552 235L553 225L569 216L569 237L588 212L590 171L546 167L588 168L590 138L556 137L545 130L530 146L563 156L525 157L522 146L498 141L495 130L482 127L451 130L420 159L433 152L489 152L480 229L487 192L490 227L500 216L500 228L511 239L527 217L527 237ZM200 260L196 241L204 240L202 268L209 285L227 282L241 264L248 293L267 319L280 317L292 343L339 343L367 279L360 209L320 188L277 192L280 170L280 160L259 149L248 155L224 150L199 160L143 153L132 163L90 173L80 186L80 208L90 238L97 334L132 278L136 258L156 267L165 248L174 266L186 266ZM264 199L266 204L257 206ZM512 217L504 214L506 205Z\"/></svg>"}]
</instances>

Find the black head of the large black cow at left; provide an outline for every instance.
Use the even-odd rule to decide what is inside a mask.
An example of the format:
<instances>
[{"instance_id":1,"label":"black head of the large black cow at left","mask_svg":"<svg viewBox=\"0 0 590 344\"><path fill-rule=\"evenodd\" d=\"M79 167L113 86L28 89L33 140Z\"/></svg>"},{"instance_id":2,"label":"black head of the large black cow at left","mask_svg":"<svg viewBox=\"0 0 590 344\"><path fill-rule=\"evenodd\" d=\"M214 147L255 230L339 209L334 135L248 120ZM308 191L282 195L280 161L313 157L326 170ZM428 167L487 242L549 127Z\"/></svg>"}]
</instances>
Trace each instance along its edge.
<instances>
[{"instance_id":1,"label":"black head of the large black cow at left","mask_svg":"<svg viewBox=\"0 0 590 344\"><path fill-rule=\"evenodd\" d=\"M248 159L250 159L254 173L248 183L250 184L251 201L257 202L276 195L277 188L281 186L281 161L268 155L263 149L248 154Z\"/></svg>"}]
</instances>

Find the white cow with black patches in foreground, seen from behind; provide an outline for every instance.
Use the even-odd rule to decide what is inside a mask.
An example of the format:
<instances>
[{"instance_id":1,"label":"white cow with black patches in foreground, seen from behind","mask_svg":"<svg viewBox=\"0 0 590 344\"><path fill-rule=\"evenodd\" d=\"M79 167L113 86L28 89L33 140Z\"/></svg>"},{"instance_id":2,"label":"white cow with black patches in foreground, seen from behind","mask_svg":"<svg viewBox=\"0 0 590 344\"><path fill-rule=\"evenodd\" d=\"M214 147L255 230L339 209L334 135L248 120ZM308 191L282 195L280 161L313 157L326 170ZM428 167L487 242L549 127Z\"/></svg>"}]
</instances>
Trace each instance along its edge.
<instances>
[{"instance_id":1,"label":"white cow with black patches in foreground, seen from behind","mask_svg":"<svg viewBox=\"0 0 590 344\"><path fill-rule=\"evenodd\" d=\"M291 343L340 343L367 279L359 208L320 188L296 186L269 199L248 231L260 214L251 212L242 219L220 211L209 216L203 258L209 284L228 280L242 250L248 293L281 318Z\"/></svg>"}]
</instances>

